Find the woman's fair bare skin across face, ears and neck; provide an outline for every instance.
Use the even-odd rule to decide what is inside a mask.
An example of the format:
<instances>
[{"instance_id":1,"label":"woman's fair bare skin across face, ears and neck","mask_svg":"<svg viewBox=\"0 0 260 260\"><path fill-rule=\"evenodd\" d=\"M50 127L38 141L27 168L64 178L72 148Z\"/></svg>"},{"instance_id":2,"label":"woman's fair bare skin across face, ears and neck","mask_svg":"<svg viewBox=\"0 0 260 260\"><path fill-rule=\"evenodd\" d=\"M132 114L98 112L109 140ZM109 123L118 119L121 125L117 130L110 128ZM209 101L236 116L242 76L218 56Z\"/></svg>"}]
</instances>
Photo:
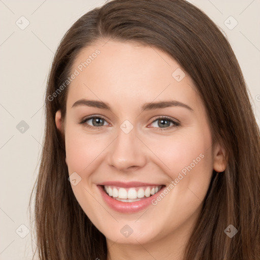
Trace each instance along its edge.
<instances>
[{"instance_id":1,"label":"woman's fair bare skin across face, ears and neck","mask_svg":"<svg viewBox=\"0 0 260 260\"><path fill-rule=\"evenodd\" d=\"M226 168L225 151L212 144L205 107L189 75L182 69L186 76L180 82L172 76L181 68L176 60L155 47L100 40L81 50L72 71L96 49L101 53L69 86L66 118L61 118L60 111L56 113L57 128L65 137L69 174L76 172L81 177L72 185L75 197L105 235L108 259L183 259L212 171ZM72 108L83 98L106 102L112 112ZM193 111L174 106L141 112L144 103L169 100L182 102ZM91 115L105 118L100 129L86 127L87 123L94 125L92 119L79 124ZM161 126L158 116L178 120L180 126L169 121ZM134 127L128 134L120 128L125 120ZM112 210L96 186L103 181L168 186L200 154L204 158L163 200L137 213ZM127 238L120 233L126 224L133 230Z\"/></svg>"}]
</instances>

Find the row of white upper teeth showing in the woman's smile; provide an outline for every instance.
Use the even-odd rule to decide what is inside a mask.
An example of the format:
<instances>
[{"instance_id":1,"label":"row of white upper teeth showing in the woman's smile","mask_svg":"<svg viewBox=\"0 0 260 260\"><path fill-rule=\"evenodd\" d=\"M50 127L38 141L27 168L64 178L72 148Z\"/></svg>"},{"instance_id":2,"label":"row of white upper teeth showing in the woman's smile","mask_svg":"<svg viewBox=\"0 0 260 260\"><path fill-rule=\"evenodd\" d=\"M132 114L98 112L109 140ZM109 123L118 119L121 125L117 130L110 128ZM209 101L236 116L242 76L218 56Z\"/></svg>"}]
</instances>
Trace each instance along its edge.
<instances>
[{"instance_id":1,"label":"row of white upper teeth showing in the woman's smile","mask_svg":"<svg viewBox=\"0 0 260 260\"><path fill-rule=\"evenodd\" d=\"M132 187L122 188L105 185L104 189L110 197L122 202L134 202L140 201L142 198L150 197L160 190L162 186L143 186L143 187Z\"/></svg>"}]
</instances>

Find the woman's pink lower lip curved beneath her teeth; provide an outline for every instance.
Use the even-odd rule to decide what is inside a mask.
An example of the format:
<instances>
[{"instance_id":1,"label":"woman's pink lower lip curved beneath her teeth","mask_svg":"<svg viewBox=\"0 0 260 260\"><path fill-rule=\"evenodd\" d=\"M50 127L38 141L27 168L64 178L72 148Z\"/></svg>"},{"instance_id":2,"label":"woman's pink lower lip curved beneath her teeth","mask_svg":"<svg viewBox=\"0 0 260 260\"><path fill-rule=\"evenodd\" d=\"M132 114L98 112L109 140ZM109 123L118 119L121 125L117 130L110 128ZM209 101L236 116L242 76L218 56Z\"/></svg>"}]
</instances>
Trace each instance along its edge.
<instances>
[{"instance_id":1,"label":"woman's pink lower lip curved beneath her teeth","mask_svg":"<svg viewBox=\"0 0 260 260\"><path fill-rule=\"evenodd\" d=\"M115 199L112 199L105 192L103 186L98 185L98 188L100 189L101 195L102 195L104 201L108 204L108 206L110 208L112 208L113 210L121 212L121 213L135 213L135 212L138 212L138 211L141 211L141 210L147 208L149 205L152 205L151 201L158 196L158 192L164 189L164 187L163 187L158 192L153 194L151 197L142 199L140 201L121 202L121 201L117 201Z\"/></svg>"}]
</instances>

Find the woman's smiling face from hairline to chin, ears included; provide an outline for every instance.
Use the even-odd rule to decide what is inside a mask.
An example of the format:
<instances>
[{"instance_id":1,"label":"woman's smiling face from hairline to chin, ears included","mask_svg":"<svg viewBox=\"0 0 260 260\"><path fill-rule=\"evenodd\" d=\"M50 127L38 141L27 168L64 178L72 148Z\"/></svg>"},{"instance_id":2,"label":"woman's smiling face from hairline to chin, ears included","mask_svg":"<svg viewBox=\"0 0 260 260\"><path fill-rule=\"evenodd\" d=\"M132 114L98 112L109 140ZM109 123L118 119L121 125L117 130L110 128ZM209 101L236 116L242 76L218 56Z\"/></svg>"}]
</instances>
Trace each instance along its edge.
<instances>
[{"instance_id":1,"label":"woman's smiling face from hairline to chin, ears included","mask_svg":"<svg viewBox=\"0 0 260 260\"><path fill-rule=\"evenodd\" d=\"M187 234L224 170L189 75L155 47L112 40L83 49L72 73L56 125L86 215L116 243Z\"/></svg>"}]
</instances>

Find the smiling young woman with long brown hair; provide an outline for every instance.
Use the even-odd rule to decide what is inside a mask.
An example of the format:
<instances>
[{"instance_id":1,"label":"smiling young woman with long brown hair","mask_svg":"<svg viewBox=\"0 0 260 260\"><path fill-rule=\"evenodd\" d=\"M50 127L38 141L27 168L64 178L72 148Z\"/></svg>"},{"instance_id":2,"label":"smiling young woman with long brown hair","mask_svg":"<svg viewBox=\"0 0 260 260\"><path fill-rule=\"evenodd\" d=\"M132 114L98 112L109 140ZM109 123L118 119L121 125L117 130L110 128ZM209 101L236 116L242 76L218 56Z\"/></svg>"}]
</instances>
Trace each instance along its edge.
<instances>
[{"instance_id":1,"label":"smiling young woman with long brown hair","mask_svg":"<svg viewBox=\"0 0 260 260\"><path fill-rule=\"evenodd\" d=\"M259 129L198 8L115 0L83 15L45 106L40 259L259 259Z\"/></svg>"}]
</instances>

